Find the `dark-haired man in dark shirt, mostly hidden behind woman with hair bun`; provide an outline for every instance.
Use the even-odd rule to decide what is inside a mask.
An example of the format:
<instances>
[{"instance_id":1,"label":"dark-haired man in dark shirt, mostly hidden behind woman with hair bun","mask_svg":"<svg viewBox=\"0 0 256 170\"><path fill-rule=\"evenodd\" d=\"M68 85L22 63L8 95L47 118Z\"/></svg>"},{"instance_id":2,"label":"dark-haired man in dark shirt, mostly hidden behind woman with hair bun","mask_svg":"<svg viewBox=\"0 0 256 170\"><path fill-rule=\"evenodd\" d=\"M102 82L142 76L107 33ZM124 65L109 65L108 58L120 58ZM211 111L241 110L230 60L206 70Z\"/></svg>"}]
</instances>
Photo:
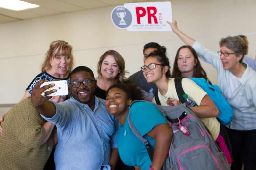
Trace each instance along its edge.
<instances>
[{"instance_id":1,"label":"dark-haired man in dark shirt, mostly hidden behind woman with hair bun","mask_svg":"<svg viewBox=\"0 0 256 170\"><path fill-rule=\"evenodd\" d=\"M159 47L161 46L156 42L150 42L148 44L145 44L143 48L143 61L151 52L157 50L157 48ZM131 75L128 80L135 83L145 91L146 100L152 101L152 99L154 98L154 94L156 93L157 87L154 83L147 82L141 70Z\"/></svg>"}]
</instances>

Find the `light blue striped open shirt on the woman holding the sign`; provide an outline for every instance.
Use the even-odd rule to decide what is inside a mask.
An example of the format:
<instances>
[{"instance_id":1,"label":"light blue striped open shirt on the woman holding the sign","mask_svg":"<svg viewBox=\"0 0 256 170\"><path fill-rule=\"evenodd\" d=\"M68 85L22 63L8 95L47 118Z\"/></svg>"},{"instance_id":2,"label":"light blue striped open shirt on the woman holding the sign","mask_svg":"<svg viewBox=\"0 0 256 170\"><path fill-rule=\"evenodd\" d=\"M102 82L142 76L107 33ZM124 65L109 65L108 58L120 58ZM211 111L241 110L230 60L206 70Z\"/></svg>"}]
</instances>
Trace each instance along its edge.
<instances>
[{"instance_id":1,"label":"light blue striped open shirt on the woman holding the sign","mask_svg":"<svg viewBox=\"0 0 256 170\"><path fill-rule=\"evenodd\" d=\"M224 70L220 55L217 52L205 48L199 42L192 46L198 56L205 62L211 64L218 72L218 85L220 91L227 99L229 88L229 76L232 74L229 70ZM246 62L243 62L247 65ZM235 130L254 130L256 129L256 72L247 67L241 78L238 79L240 85L228 99L233 107L234 118L230 125Z\"/></svg>"}]
</instances>

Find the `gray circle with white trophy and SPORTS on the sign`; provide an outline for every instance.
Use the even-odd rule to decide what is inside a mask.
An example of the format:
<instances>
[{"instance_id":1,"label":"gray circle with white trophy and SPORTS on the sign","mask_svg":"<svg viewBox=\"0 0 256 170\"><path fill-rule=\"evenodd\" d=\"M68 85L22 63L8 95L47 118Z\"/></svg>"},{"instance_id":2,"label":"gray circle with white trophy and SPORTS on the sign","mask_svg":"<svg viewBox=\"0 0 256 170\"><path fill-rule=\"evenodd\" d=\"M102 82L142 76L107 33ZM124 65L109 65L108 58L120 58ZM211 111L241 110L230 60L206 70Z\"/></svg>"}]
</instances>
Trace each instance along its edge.
<instances>
[{"instance_id":1,"label":"gray circle with white trophy and SPORTS on the sign","mask_svg":"<svg viewBox=\"0 0 256 170\"><path fill-rule=\"evenodd\" d=\"M111 19L116 27L125 29L132 23L132 14L124 6L117 6L111 12Z\"/></svg>"}]
</instances>

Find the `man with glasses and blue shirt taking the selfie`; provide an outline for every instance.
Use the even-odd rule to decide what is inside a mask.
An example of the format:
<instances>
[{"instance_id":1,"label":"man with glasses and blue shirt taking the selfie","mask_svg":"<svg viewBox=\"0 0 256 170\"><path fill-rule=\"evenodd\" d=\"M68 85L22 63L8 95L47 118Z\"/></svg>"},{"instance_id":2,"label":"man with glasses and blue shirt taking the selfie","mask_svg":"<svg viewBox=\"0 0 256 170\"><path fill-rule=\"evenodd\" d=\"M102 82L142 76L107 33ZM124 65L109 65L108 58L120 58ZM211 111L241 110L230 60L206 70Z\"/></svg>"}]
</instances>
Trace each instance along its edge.
<instances>
[{"instance_id":1,"label":"man with glasses and blue shirt taking the selfie","mask_svg":"<svg viewBox=\"0 0 256 170\"><path fill-rule=\"evenodd\" d=\"M57 126L56 169L101 170L110 166L112 169L118 157L115 133L118 122L106 111L105 100L95 97L96 80L92 70L79 66L71 72L72 97L60 104L42 97L42 92L53 86L39 88L43 82L35 85L31 97L33 106L44 119Z\"/></svg>"}]
</instances>

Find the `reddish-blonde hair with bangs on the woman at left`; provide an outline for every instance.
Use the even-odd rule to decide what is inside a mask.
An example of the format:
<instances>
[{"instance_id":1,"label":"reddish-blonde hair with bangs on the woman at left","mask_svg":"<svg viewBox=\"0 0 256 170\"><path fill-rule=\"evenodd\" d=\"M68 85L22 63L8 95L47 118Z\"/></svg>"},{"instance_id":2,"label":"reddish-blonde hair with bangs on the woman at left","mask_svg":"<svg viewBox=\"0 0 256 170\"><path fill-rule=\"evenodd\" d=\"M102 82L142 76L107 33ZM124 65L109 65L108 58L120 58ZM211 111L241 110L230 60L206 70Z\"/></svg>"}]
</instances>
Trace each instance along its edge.
<instances>
[{"instance_id":1,"label":"reddish-blonde hair with bangs on the woman at left","mask_svg":"<svg viewBox=\"0 0 256 170\"><path fill-rule=\"evenodd\" d=\"M68 42L63 40L53 41L50 44L50 48L46 53L44 63L41 66L41 71L44 72L51 67L50 59L57 55L65 55L70 57L70 64L68 68L68 74L71 72L74 66L74 57L72 54L72 46Z\"/></svg>"}]
</instances>

